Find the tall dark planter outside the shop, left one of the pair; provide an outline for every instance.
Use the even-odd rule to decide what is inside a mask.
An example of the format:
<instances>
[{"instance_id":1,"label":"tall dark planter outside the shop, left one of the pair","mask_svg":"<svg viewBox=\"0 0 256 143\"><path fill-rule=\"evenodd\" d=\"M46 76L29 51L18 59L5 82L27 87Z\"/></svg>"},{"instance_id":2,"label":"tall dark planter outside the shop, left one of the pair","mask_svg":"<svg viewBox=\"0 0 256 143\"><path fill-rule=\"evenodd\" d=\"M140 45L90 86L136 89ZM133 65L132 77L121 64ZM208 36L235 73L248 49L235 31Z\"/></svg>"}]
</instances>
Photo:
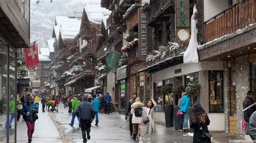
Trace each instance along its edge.
<instances>
[{"instance_id":1,"label":"tall dark planter outside the shop, left one of the pair","mask_svg":"<svg viewBox=\"0 0 256 143\"><path fill-rule=\"evenodd\" d=\"M173 105L164 105L165 107L165 126L173 127Z\"/></svg>"}]
</instances>

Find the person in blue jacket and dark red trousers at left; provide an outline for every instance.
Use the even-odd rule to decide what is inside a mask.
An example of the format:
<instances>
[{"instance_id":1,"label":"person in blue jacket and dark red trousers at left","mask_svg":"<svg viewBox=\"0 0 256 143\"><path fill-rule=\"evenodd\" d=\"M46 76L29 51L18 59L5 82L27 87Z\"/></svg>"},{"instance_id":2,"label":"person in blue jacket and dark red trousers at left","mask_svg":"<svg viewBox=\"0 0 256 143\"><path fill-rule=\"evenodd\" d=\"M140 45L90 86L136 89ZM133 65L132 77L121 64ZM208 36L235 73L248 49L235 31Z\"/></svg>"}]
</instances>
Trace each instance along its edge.
<instances>
[{"instance_id":1,"label":"person in blue jacket and dark red trousers at left","mask_svg":"<svg viewBox=\"0 0 256 143\"><path fill-rule=\"evenodd\" d=\"M22 115L28 127L28 142L30 143L32 141L33 132L35 131L35 121L38 118L36 113L38 113L38 109L29 94L26 101L27 102L22 107Z\"/></svg>"}]
</instances>

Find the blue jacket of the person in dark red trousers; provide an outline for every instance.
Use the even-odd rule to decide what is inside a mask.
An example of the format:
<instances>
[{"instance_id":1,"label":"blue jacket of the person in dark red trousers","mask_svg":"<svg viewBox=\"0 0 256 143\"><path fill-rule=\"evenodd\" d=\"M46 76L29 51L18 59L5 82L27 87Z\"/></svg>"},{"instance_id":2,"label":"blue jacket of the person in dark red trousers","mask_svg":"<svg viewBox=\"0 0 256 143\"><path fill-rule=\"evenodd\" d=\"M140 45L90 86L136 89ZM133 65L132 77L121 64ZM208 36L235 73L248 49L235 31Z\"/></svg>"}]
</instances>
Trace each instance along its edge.
<instances>
[{"instance_id":1,"label":"blue jacket of the person in dark red trousers","mask_svg":"<svg viewBox=\"0 0 256 143\"><path fill-rule=\"evenodd\" d=\"M22 115L23 115L23 119L26 121L26 120L29 120L29 121L33 121L33 117L32 117L32 114L34 114L32 112L32 110L36 110L36 113L38 113L38 109L37 109L37 105L33 102L31 102L30 104L28 103L25 103L22 107ZM30 115L27 116L26 113L29 112Z\"/></svg>"}]
</instances>

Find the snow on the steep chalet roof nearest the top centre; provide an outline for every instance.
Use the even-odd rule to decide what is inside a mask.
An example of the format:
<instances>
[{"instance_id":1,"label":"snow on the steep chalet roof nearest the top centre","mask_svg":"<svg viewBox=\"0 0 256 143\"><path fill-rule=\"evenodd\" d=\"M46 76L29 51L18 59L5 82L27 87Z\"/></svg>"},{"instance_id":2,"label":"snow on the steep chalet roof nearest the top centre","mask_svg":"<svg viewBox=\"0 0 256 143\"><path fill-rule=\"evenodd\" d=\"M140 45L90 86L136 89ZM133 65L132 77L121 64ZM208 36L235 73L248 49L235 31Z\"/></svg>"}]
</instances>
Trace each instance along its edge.
<instances>
[{"instance_id":1,"label":"snow on the steep chalet roof nearest the top centre","mask_svg":"<svg viewBox=\"0 0 256 143\"><path fill-rule=\"evenodd\" d=\"M89 21L97 24L102 22L104 16L111 15L111 11L100 7L100 3L85 3L84 10Z\"/></svg>"}]
</instances>

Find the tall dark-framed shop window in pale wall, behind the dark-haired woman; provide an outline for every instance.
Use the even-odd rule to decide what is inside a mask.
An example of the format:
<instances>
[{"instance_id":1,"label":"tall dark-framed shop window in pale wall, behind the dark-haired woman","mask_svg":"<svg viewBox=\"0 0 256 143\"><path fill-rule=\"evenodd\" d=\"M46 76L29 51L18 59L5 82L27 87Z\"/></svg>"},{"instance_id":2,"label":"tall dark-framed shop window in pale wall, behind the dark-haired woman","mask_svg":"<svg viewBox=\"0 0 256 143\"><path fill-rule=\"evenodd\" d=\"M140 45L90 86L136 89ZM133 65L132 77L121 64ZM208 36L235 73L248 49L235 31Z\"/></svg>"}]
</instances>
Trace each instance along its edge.
<instances>
[{"instance_id":1,"label":"tall dark-framed shop window in pale wall, behind the dark-haired woman","mask_svg":"<svg viewBox=\"0 0 256 143\"><path fill-rule=\"evenodd\" d=\"M223 71L209 71L208 74L210 113L223 113Z\"/></svg>"}]
</instances>

